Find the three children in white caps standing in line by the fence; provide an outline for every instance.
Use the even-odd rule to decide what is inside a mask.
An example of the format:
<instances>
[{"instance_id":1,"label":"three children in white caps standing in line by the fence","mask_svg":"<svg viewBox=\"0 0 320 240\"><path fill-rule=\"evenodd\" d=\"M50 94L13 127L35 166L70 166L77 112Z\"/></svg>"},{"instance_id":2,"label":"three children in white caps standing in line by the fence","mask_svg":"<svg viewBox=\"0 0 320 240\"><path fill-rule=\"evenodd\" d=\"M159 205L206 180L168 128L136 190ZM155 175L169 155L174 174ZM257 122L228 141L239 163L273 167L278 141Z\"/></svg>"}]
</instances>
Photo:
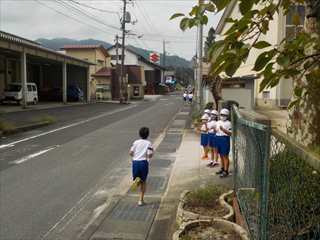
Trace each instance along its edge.
<instances>
[{"instance_id":1,"label":"three children in white caps standing in line by the fence","mask_svg":"<svg viewBox=\"0 0 320 240\"><path fill-rule=\"evenodd\" d=\"M228 120L230 112L228 109L221 109L220 113L216 110L204 110L201 117L201 146L203 147L203 160L211 160L208 167L219 165L220 157L221 169L216 173L221 178L229 176L229 152L231 122Z\"/></svg>"}]
</instances>

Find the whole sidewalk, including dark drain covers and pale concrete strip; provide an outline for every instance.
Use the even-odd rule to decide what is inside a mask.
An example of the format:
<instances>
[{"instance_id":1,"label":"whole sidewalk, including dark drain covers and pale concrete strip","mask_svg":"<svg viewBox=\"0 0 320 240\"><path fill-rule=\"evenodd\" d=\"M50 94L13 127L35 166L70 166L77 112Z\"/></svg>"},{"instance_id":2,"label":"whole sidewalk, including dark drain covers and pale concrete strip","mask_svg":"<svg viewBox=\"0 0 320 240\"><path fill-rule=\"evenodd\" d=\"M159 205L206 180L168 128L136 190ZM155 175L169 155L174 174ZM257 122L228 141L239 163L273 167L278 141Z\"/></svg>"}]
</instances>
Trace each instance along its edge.
<instances>
[{"instance_id":1,"label":"whole sidewalk, including dark drain covers and pale concrete strip","mask_svg":"<svg viewBox=\"0 0 320 240\"><path fill-rule=\"evenodd\" d=\"M103 219L81 234L90 240L165 240L175 231L175 216L182 191L208 182L231 187L232 177L220 179L218 168L200 159L199 136L186 129L189 107L184 107L169 126L150 162L146 205L137 206L139 192L128 191L108 207Z\"/></svg>"}]
</instances>

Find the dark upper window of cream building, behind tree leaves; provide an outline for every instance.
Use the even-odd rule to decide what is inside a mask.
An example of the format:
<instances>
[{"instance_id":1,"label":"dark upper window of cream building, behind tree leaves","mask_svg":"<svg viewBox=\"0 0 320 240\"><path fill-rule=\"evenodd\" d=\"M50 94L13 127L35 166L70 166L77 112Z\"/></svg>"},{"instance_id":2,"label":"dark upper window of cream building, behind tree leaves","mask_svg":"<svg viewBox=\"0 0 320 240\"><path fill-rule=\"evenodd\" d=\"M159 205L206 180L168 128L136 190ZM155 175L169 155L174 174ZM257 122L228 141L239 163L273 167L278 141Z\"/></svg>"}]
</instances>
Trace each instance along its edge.
<instances>
[{"instance_id":1,"label":"dark upper window of cream building, behind tree leaves","mask_svg":"<svg viewBox=\"0 0 320 240\"><path fill-rule=\"evenodd\" d=\"M286 37L294 38L303 30L305 7L302 5L291 6L286 16Z\"/></svg>"}]
</instances>

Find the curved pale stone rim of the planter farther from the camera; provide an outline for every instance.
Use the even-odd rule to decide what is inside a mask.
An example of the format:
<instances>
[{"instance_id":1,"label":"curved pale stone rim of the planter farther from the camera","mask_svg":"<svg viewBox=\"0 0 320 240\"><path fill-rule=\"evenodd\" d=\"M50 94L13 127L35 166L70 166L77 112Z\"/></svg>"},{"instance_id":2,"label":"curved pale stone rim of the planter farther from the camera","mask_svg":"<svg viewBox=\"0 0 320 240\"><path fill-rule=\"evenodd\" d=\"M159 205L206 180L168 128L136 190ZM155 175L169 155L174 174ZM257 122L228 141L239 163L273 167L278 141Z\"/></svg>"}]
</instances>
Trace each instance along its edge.
<instances>
[{"instance_id":1,"label":"curved pale stone rim of the planter farther from the camera","mask_svg":"<svg viewBox=\"0 0 320 240\"><path fill-rule=\"evenodd\" d=\"M213 219L215 219L212 216L201 215L201 214L198 214L198 213L194 213L194 212L190 212L190 211L185 210L184 209L185 201L186 201L186 197L187 197L187 195L189 193L190 193L190 191L186 190L180 196L180 202L179 202L179 205L178 205L177 217L176 217L177 224L180 226L183 223L189 222L189 221L194 221L194 220L213 220ZM224 193L219 197L220 205L228 211L228 213L225 216L220 217L221 219L232 220L233 217L234 217L234 210L233 210L232 206L230 206L225 201L225 198L227 196L229 196L230 194L233 194L233 191L229 191L227 193Z\"/></svg>"}]
</instances>

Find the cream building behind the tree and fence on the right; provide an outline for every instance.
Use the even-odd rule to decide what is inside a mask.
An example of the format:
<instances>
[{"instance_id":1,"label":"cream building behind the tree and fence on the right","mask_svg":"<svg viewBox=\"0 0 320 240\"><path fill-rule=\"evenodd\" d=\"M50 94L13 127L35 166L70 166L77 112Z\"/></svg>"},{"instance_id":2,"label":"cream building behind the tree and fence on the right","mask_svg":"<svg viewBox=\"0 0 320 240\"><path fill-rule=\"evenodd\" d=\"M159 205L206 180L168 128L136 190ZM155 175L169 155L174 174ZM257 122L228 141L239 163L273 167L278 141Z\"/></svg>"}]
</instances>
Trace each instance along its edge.
<instances>
[{"instance_id":1,"label":"cream building behind the tree and fence on the right","mask_svg":"<svg viewBox=\"0 0 320 240\"><path fill-rule=\"evenodd\" d=\"M272 45L278 45L284 37L302 29L304 8L303 6L292 6L292 8L297 8L301 25L295 26L293 24L291 12L287 16L280 12L270 22L269 29L272 30L268 31L266 35L262 35L260 40L267 41ZM219 35L217 40L223 39L223 34L231 26L227 19L239 19L240 17L241 13L237 1L232 1L225 9L217 25L216 34ZM223 100L235 100L243 107L251 105L252 107L282 108L288 105L293 91L293 83L290 79L283 79L277 86L259 92L259 85L262 79L258 78L256 72L252 69L255 59L261 52L261 50L253 49L247 61L240 66L234 77L224 81L227 86L225 85L223 88ZM250 102L248 102L249 99Z\"/></svg>"}]
</instances>

